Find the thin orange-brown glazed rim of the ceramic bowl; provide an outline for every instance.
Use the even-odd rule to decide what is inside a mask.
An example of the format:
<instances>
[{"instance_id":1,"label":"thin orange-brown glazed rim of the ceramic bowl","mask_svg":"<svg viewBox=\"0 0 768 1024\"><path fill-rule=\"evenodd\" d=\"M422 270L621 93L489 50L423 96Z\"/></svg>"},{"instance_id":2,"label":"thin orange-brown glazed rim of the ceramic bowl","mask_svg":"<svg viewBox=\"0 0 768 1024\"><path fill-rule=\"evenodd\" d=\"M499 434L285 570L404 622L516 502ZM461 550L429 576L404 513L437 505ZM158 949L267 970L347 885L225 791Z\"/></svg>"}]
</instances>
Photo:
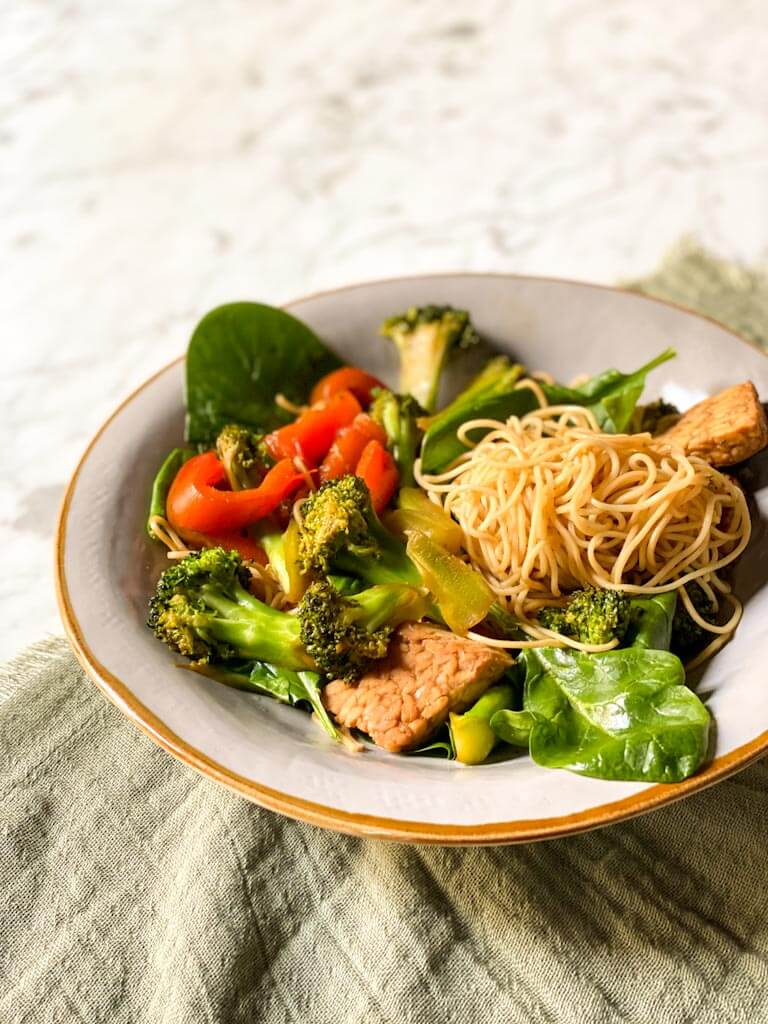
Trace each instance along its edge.
<instances>
[{"instance_id":1,"label":"thin orange-brown glazed rim of the ceramic bowl","mask_svg":"<svg viewBox=\"0 0 768 1024\"><path fill-rule=\"evenodd\" d=\"M589 282L568 281L561 278L540 278L535 275L523 275L513 273L463 273L461 271L441 272L434 274L418 274L414 278L453 278L453 276L498 276L513 280L537 280L551 281L560 284L578 285L583 288L603 289L610 292L624 292L634 297L648 302L657 302L662 305L671 306L685 312L688 315L698 316L700 319L714 324L721 330L730 334L741 344L750 345L761 353L763 350L745 338L741 338L734 331L724 327L718 321L697 313L677 303L668 302L664 299L653 298L630 289L612 288L608 285L594 285ZM303 301L316 298L321 295L330 295L336 292L347 291L352 288L361 288L369 285L383 283L383 281L401 281L406 278L382 279L381 281L365 282L346 288L332 289L326 292L317 292L312 295L303 296L285 305L289 308L301 305ZM424 824L419 821L398 820L395 818L383 818L366 814L352 814L337 808L327 807L323 804L312 803L300 798L291 797L254 782L237 772L224 768L222 765L208 758L202 751L191 746L172 729L150 711L140 700L138 700L130 688L117 676L115 676L104 665L102 665L93 654L88 646L85 637L80 630L77 616L72 607L67 585L65 571L65 549L67 544L68 515L72 496L77 486L81 469L85 464L91 450L98 441L99 437L112 421L120 414L140 391L146 388L158 377L164 374L172 366L180 362L183 356L173 359L147 380L133 390L118 408L111 414L104 423L96 431L88 446L80 458L78 465L68 483L65 492L61 508L58 515L56 535L54 542L54 580L56 588L56 599L61 615L67 636L72 644L73 650L85 671L86 675L95 683L99 690L122 712L134 725L138 726L151 739L162 746L169 754L172 754L185 765L194 768L202 775L213 779L259 804L271 811L288 815L309 824L318 825L325 828L332 828L337 831L347 833L353 836L360 836L371 839L391 840L403 843L423 843L443 846L483 846L501 845L511 843L527 843L545 839L556 839L564 836L575 835L588 831L592 828L599 828L603 825L613 824L618 821L635 817L659 807L667 806L677 800L689 796L692 793L706 790L710 785L721 781L728 775L740 771L753 761L758 760L768 751L768 731L756 736L749 743L736 748L729 754L716 758L696 775L691 776L683 782L673 784L658 784L648 787L633 797L625 800L614 801L609 804L602 804L598 807L580 811L575 814L561 815L553 818L536 818L518 821L501 821L483 825L438 825Z\"/></svg>"}]
</instances>

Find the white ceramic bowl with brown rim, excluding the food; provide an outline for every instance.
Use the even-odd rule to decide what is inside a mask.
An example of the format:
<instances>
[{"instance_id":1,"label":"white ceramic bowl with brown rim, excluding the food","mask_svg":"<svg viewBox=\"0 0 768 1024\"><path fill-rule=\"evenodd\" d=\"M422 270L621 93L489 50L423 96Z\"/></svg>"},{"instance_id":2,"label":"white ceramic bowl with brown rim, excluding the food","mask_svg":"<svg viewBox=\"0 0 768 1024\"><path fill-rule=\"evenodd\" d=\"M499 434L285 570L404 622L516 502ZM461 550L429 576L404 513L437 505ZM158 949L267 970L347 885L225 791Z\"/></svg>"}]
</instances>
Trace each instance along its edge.
<instances>
[{"instance_id":1,"label":"white ceramic bowl with brown rim, excluding the food","mask_svg":"<svg viewBox=\"0 0 768 1024\"><path fill-rule=\"evenodd\" d=\"M559 380L635 369L672 345L679 357L654 372L647 394L690 403L746 378L768 394L768 360L758 349L714 322L613 289L440 274L357 285L288 308L342 357L393 382L392 346L377 338L377 326L393 310L428 302L470 309L485 339ZM466 768L381 751L351 755L327 741L308 715L178 671L144 625L165 558L143 522L155 470L182 437L182 376L180 359L161 371L91 441L61 510L57 577L65 626L86 672L187 765L265 807L332 828L413 842L506 843L658 807L768 748L761 668L768 659L768 480L760 460L753 472L754 539L736 570L736 589L749 598L744 618L698 685L717 722L714 758L680 784L582 778L539 768L526 757Z\"/></svg>"}]
</instances>

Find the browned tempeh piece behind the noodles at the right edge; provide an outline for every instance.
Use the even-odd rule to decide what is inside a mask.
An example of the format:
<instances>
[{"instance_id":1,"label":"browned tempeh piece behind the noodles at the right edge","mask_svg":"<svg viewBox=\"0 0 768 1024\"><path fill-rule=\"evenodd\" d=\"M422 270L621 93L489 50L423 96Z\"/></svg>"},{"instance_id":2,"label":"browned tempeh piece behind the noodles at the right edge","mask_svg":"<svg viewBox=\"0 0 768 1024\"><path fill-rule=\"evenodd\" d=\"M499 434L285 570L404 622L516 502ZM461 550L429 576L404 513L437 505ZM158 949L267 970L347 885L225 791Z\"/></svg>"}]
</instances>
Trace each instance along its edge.
<instances>
[{"instance_id":1,"label":"browned tempeh piece behind the noodles at the right edge","mask_svg":"<svg viewBox=\"0 0 768 1024\"><path fill-rule=\"evenodd\" d=\"M658 436L713 466L733 466L768 444L768 422L755 385L744 381L699 401Z\"/></svg>"}]
</instances>

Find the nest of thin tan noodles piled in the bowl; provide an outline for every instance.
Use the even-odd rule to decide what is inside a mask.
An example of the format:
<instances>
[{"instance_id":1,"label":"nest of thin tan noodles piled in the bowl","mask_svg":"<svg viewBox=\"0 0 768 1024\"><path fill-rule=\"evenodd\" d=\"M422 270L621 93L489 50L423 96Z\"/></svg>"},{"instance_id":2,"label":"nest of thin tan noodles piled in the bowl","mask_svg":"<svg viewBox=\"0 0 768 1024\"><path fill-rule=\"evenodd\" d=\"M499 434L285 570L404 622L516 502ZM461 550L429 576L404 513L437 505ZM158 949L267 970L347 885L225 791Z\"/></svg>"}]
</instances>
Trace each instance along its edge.
<instances>
[{"instance_id":1,"label":"nest of thin tan noodles piled in the bowl","mask_svg":"<svg viewBox=\"0 0 768 1024\"><path fill-rule=\"evenodd\" d=\"M486 433L473 444L478 429ZM438 475L417 464L417 479L457 520L470 562L532 638L499 643L614 645L580 644L538 626L543 607L585 586L632 595L678 590L718 646L732 634L741 606L718 572L746 547L750 514L725 474L650 434L602 433L575 406L506 423L471 420L459 437L466 455ZM693 580L716 608L727 599L728 622L700 618L685 591Z\"/></svg>"}]
</instances>

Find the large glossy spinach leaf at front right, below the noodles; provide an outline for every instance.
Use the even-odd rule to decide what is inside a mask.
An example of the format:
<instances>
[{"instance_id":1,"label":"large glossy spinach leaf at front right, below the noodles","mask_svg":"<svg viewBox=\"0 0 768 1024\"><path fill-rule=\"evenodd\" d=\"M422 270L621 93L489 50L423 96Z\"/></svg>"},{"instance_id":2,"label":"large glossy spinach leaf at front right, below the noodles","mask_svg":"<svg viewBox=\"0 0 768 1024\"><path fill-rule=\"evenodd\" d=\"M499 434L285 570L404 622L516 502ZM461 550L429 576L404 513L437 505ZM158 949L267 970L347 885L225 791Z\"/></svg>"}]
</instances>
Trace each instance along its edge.
<instances>
[{"instance_id":1,"label":"large glossy spinach leaf at front right, below the noodles","mask_svg":"<svg viewBox=\"0 0 768 1024\"><path fill-rule=\"evenodd\" d=\"M521 656L537 764L596 778L678 782L705 760L710 715L684 685L674 654L540 647Z\"/></svg>"}]
</instances>

